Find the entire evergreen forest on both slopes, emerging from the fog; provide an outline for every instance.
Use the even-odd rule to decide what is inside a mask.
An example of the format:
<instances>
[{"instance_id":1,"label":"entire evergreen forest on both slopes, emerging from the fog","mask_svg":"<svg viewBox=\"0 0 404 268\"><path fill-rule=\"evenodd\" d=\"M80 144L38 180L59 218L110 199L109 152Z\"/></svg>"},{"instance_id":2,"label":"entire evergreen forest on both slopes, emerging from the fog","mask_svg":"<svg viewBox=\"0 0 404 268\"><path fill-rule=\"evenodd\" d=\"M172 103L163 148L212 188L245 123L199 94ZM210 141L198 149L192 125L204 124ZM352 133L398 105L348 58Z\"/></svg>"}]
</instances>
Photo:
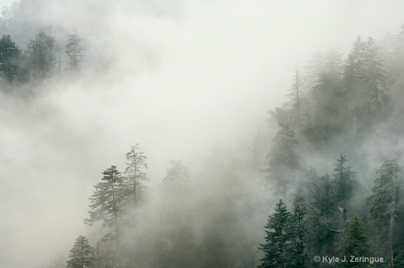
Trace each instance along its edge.
<instances>
[{"instance_id":1,"label":"entire evergreen forest on both slopes, emerging from the fog","mask_svg":"<svg viewBox=\"0 0 404 268\"><path fill-rule=\"evenodd\" d=\"M34 102L44 85L111 69L79 28L35 25L32 9L2 9L2 96ZM152 184L144 141L128 144L94 171L76 219L91 231L43 267L404 267L404 24L380 41L358 33L346 55L327 49L295 67L288 101L241 152L210 145L196 176L167 159Z\"/></svg>"}]
</instances>

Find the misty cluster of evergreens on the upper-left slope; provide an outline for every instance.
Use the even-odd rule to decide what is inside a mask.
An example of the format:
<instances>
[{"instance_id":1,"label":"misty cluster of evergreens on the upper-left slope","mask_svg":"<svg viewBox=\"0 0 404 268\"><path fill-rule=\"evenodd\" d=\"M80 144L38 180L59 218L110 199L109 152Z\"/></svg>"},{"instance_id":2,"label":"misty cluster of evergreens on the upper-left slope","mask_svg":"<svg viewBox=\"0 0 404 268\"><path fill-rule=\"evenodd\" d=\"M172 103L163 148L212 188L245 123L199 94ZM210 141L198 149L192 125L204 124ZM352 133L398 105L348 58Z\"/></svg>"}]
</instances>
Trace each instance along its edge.
<instances>
[{"instance_id":1,"label":"misty cluster of evergreens on the upper-left slope","mask_svg":"<svg viewBox=\"0 0 404 268\"><path fill-rule=\"evenodd\" d=\"M78 73L82 61L82 38L75 29L68 34L68 41L61 47L56 38L50 33L52 26L28 25L25 21L27 11L33 12L29 1L20 1L5 6L0 18L0 84L3 90L14 87L36 84L45 79L62 73ZM37 29L33 34L31 31ZM27 31L30 31L27 33ZM48 33L49 32L49 33ZM25 48L21 44L25 41L22 36L33 36ZM67 66L61 67L61 58L67 57Z\"/></svg>"}]
</instances>

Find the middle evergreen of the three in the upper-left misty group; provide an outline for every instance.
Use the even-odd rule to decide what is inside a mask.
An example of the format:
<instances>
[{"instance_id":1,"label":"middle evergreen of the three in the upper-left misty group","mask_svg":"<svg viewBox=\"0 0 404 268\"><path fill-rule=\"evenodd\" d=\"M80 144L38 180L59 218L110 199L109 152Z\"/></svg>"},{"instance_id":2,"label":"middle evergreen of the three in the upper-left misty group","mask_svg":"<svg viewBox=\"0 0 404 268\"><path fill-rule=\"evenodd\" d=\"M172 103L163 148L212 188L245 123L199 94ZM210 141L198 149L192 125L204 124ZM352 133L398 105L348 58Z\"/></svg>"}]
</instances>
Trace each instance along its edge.
<instances>
[{"instance_id":1,"label":"middle evergreen of the three in the upper-left misty group","mask_svg":"<svg viewBox=\"0 0 404 268\"><path fill-rule=\"evenodd\" d=\"M27 46L29 70L33 79L52 77L57 70L57 47L53 36L40 32Z\"/></svg>"}]
</instances>

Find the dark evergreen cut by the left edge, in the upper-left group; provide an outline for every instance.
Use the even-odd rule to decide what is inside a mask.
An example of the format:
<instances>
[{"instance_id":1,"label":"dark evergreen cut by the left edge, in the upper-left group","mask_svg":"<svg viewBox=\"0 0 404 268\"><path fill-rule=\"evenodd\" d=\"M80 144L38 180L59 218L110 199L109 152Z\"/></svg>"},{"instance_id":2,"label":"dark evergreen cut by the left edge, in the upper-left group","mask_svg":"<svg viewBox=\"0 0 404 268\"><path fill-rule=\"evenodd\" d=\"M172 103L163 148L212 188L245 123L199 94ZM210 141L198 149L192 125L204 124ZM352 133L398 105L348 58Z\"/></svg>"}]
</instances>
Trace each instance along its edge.
<instances>
[{"instance_id":1,"label":"dark evergreen cut by the left edge, in the upper-left group","mask_svg":"<svg viewBox=\"0 0 404 268\"><path fill-rule=\"evenodd\" d=\"M21 51L10 35L0 39L0 76L7 82L15 81L18 77Z\"/></svg>"}]
</instances>

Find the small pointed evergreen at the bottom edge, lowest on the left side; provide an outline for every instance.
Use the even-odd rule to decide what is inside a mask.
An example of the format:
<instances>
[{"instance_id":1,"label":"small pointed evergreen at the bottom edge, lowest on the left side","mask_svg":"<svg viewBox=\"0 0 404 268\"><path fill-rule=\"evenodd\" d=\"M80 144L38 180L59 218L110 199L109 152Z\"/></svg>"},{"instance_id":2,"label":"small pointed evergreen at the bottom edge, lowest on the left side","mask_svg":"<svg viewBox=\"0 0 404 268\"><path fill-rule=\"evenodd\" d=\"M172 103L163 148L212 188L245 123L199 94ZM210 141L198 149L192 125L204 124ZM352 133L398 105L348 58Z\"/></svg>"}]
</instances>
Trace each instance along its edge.
<instances>
[{"instance_id":1,"label":"small pointed evergreen at the bottom edge, lowest on the left side","mask_svg":"<svg viewBox=\"0 0 404 268\"><path fill-rule=\"evenodd\" d=\"M88 268L93 263L92 248L85 236L76 239L72 249L70 249L67 261L68 268Z\"/></svg>"}]
</instances>

